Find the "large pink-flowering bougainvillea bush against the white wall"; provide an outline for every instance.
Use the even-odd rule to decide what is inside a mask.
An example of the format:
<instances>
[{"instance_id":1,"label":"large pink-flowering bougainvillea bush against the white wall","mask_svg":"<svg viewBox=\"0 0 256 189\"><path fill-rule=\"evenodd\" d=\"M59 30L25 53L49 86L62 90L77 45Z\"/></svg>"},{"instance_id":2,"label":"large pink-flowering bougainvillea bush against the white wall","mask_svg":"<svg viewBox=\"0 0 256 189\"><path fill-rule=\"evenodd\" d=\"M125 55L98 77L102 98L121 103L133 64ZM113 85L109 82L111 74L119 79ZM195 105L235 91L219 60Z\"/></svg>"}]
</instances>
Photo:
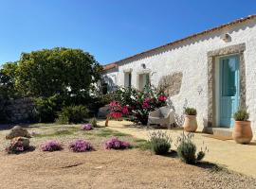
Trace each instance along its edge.
<instances>
[{"instance_id":1,"label":"large pink-flowering bougainvillea bush against the white wall","mask_svg":"<svg viewBox=\"0 0 256 189\"><path fill-rule=\"evenodd\" d=\"M110 118L127 116L131 121L147 125L149 112L166 106L167 96L149 85L143 91L134 88L119 88L114 96L115 100L110 103Z\"/></svg>"}]
</instances>

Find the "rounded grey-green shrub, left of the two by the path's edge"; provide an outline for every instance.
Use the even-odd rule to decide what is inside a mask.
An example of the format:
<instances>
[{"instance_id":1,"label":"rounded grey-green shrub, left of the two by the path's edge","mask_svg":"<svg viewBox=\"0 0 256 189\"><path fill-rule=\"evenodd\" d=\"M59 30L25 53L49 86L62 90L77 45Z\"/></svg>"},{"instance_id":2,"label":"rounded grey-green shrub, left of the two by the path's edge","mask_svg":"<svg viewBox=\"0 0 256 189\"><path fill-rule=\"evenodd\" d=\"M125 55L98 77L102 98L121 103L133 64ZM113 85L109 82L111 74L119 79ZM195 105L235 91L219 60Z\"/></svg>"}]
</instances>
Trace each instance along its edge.
<instances>
[{"instance_id":1,"label":"rounded grey-green shrub, left of the two by the path's edge","mask_svg":"<svg viewBox=\"0 0 256 189\"><path fill-rule=\"evenodd\" d=\"M150 134L151 150L157 155L166 154L171 148L172 139L166 132L154 131Z\"/></svg>"}]
</instances>

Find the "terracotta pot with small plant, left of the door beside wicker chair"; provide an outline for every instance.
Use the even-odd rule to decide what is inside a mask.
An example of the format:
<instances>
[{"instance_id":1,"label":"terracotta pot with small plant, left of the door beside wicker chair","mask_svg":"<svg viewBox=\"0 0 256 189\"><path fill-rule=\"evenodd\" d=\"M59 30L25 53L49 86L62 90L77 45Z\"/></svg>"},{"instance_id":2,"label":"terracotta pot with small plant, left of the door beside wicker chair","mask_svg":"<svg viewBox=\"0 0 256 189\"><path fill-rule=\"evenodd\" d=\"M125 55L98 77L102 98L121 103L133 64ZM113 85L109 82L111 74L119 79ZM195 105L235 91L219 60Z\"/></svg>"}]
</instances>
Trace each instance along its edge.
<instances>
[{"instance_id":1,"label":"terracotta pot with small plant, left of the door beside wicker chair","mask_svg":"<svg viewBox=\"0 0 256 189\"><path fill-rule=\"evenodd\" d=\"M194 108L186 108L185 114L184 130L187 132L195 132L197 129L196 110Z\"/></svg>"}]
</instances>

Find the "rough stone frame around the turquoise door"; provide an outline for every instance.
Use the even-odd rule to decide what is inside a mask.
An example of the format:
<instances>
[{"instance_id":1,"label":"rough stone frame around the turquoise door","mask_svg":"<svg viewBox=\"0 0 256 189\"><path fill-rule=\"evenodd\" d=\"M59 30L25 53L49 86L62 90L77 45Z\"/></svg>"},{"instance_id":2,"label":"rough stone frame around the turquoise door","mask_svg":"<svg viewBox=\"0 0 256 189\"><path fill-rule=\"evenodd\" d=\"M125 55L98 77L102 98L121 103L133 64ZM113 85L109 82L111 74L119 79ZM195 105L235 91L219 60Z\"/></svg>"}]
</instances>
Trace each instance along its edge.
<instances>
[{"instance_id":1,"label":"rough stone frame around the turquoise door","mask_svg":"<svg viewBox=\"0 0 256 189\"><path fill-rule=\"evenodd\" d=\"M246 62L244 58L244 51L246 50L246 43L230 45L224 48L208 52L208 127L216 126L215 123L215 58L229 54L238 54L240 57L240 106L246 107Z\"/></svg>"}]
</instances>

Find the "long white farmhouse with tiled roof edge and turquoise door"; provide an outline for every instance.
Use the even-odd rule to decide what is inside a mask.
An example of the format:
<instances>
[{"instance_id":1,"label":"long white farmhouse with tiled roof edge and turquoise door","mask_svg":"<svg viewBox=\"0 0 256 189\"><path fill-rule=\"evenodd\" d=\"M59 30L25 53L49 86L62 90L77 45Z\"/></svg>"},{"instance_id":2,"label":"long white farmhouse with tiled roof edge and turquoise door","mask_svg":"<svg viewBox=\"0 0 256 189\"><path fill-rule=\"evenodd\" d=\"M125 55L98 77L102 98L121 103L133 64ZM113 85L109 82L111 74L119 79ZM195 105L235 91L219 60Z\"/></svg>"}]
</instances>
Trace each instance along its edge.
<instances>
[{"instance_id":1,"label":"long white farmhouse with tiled roof edge and turquoise door","mask_svg":"<svg viewBox=\"0 0 256 189\"><path fill-rule=\"evenodd\" d=\"M256 15L217 26L104 66L109 89L165 87L177 114L197 110L201 128L231 128L247 107L256 129Z\"/></svg>"}]
</instances>

